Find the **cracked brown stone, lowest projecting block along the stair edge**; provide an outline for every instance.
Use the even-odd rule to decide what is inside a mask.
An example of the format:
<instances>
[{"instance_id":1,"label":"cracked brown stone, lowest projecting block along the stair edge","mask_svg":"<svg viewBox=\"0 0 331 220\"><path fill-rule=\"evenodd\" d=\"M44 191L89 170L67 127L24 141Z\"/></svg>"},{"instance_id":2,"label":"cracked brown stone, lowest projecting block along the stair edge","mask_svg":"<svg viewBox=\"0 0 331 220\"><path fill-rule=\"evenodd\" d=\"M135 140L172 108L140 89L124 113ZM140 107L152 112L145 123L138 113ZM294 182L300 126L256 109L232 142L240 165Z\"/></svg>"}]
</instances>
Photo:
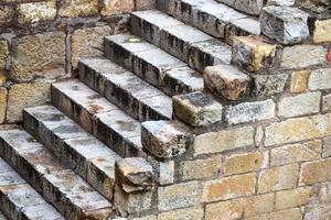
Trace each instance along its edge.
<instances>
[{"instance_id":1,"label":"cracked brown stone, lowest projecting block along the stair edge","mask_svg":"<svg viewBox=\"0 0 331 220\"><path fill-rule=\"evenodd\" d=\"M115 164L116 182L127 194L151 190L153 170L145 158L128 157Z\"/></svg>"}]
</instances>

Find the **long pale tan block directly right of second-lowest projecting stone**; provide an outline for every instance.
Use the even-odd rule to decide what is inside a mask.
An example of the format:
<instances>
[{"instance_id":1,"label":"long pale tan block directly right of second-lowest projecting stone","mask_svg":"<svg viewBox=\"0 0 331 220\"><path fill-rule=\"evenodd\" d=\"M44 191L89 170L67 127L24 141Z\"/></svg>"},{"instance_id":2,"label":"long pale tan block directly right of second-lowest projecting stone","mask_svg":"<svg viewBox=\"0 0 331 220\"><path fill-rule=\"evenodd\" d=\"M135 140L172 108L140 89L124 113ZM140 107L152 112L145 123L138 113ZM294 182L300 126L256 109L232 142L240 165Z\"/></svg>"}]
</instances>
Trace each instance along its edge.
<instances>
[{"instance_id":1,"label":"long pale tan block directly right of second-lowest projecting stone","mask_svg":"<svg viewBox=\"0 0 331 220\"><path fill-rule=\"evenodd\" d=\"M194 155L222 153L224 151L249 146L254 144L254 129L238 129L210 132L197 135L194 140Z\"/></svg>"}]
</instances>

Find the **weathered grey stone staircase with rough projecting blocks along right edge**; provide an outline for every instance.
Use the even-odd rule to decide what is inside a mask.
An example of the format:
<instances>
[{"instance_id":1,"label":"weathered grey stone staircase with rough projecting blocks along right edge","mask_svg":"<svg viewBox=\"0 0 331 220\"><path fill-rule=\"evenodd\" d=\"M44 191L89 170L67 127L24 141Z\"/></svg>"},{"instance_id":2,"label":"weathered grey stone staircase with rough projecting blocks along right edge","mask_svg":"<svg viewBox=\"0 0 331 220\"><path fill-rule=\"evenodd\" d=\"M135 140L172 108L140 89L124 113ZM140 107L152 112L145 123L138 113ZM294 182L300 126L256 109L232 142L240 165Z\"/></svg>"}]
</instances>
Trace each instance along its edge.
<instances>
[{"instance_id":1,"label":"weathered grey stone staircase with rough projecting blocks along right edge","mask_svg":"<svg viewBox=\"0 0 331 220\"><path fill-rule=\"evenodd\" d=\"M157 10L132 12L134 35L106 36L105 58L79 61L77 78L52 85L52 106L26 108L22 129L0 132L2 212L74 220L145 211L120 202L149 191L146 178L130 185L135 179L120 177L150 167L124 158L154 162L158 185L158 162L182 156L195 134L271 119L269 97L288 77L274 72L276 42L300 40L258 36L260 10L227 0L159 0ZM268 26L266 35L273 30L279 32Z\"/></svg>"}]
</instances>

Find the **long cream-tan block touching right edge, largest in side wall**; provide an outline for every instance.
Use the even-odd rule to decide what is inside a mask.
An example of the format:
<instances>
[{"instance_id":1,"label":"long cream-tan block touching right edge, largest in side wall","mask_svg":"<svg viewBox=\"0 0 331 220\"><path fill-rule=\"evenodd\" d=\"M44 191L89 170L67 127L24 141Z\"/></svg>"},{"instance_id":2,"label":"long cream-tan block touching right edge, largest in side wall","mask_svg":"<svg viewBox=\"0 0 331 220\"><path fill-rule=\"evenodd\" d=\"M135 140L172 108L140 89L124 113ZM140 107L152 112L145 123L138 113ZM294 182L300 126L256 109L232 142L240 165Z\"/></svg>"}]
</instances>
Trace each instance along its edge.
<instances>
[{"instance_id":1,"label":"long cream-tan block touching right edge, largest in side wall","mask_svg":"<svg viewBox=\"0 0 331 220\"><path fill-rule=\"evenodd\" d=\"M289 119L266 128L265 145L280 145L331 135L331 113Z\"/></svg>"}]
</instances>

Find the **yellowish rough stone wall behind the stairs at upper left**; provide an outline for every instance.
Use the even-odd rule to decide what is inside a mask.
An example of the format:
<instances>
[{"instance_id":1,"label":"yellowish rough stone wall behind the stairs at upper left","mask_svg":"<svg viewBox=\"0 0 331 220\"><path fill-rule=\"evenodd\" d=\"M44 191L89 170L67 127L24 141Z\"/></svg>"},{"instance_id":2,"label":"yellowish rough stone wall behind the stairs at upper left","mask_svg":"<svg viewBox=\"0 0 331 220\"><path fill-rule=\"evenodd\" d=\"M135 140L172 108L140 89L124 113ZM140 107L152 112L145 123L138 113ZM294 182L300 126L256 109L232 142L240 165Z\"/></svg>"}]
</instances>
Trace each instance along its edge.
<instances>
[{"instance_id":1,"label":"yellowish rough stone wall behind the stairs at upper left","mask_svg":"<svg viewBox=\"0 0 331 220\"><path fill-rule=\"evenodd\" d=\"M0 124L49 101L50 82L81 57L102 56L103 36L127 31L128 12L151 0L1 0Z\"/></svg>"}]
</instances>

